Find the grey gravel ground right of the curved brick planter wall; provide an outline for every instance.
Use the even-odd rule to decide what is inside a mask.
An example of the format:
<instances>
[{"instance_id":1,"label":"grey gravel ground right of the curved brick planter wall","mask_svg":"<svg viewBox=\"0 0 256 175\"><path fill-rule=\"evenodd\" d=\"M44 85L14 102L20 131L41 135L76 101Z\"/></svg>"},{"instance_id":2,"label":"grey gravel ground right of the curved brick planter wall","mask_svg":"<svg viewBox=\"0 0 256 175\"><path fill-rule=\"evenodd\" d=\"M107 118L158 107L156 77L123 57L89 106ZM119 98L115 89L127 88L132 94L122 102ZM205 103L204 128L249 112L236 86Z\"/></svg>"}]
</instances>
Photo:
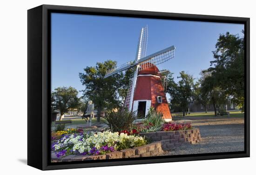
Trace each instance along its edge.
<instances>
[{"instance_id":1,"label":"grey gravel ground right of the curved brick planter wall","mask_svg":"<svg viewBox=\"0 0 256 175\"><path fill-rule=\"evenodd\" d=\"M181 147L167 152L168 155L202 154L233 152L244 150L244 120L195 119L191 122L200 129L202 140L198 144L182 144Z\"/></svg>"}]
</instances>

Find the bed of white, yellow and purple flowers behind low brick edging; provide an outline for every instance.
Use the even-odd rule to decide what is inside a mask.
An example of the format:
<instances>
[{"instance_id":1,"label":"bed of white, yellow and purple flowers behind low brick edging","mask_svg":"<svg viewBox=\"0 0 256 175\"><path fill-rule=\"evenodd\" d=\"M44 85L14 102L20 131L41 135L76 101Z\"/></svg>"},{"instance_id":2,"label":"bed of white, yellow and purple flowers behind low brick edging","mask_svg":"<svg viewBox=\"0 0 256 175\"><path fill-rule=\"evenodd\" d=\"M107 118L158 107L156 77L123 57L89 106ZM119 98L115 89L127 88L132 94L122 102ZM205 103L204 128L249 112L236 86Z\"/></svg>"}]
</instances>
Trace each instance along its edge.
<instances>
[{"instance_id":1,"label":"bed of white, yellow and purple flowers behind low brick edging","mask_svg":"<svg viewBox=\"0 0 256 175\"><path fill-rule=\"evenodd\" d=\"M116 150L124 150L147 144L141 136L118 132L89 132L62 135L52 141L52 151L58 158L68 155L105 155Z\"/></svg>"}]
</instances>

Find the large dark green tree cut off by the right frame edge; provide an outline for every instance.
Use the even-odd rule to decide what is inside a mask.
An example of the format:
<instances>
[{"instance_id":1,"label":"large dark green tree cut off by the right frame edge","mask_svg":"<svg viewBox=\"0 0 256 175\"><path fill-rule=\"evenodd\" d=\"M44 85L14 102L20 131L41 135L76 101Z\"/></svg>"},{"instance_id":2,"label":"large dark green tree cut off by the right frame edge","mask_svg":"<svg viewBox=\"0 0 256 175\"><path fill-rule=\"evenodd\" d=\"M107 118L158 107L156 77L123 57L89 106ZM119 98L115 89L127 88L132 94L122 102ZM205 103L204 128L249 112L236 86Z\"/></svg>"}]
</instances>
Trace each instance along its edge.
<instances>
[{"instance_id":1,"label":"large dark green tree cut off by the right frame edge","mask_svg":"<svg viewBox=\"0 0 256 175\"><path fill-rule=\"evenodd\" d=\"M244 33L244 31L243 31ZM213 51L212 76L236 105L244 106L244 37L221 34ZM225 100L225 99L224 99Z\"/></svg>"}]
</instances>

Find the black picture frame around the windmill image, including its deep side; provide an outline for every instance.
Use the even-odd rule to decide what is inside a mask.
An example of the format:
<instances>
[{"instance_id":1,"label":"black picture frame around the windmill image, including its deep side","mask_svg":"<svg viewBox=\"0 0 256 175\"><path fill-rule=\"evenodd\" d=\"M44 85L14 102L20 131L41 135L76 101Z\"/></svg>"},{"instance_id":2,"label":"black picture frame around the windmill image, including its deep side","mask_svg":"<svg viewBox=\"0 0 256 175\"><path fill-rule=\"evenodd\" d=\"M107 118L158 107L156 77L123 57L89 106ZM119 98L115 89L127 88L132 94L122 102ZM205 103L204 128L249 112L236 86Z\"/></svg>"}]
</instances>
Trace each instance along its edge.
<instances>
[{"instance_id":1,"label":"black picture frame around the windmill image, including its deep side","mask_svg":"<svg viewBox=\"0 0 256 175\"><path fill-rule=\"evenodd\" d=\"M115 159L109 161L50 162L50 93L51 93L51 12L90 14L149 19L244 24L245 31L245 137L244 151L180 156L158 156L143 159ZM209 159L249 157L249 18L146 12L88 8L75 6L41 5L27 11L27 164L41 170L73 169L144 163L180 162Z\"/></svg>"}]
</instances>

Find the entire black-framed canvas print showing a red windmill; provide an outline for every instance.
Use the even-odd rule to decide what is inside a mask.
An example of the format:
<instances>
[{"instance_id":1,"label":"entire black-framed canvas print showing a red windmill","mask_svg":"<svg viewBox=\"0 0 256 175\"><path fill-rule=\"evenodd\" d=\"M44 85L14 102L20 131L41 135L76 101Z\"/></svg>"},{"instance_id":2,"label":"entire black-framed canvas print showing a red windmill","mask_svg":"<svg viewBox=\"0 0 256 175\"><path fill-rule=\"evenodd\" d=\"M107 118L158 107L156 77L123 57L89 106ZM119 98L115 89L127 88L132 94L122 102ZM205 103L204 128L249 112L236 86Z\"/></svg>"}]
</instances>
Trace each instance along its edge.
<instances>
[{"instance_id":1,"label":"entire black-framed canvas print showing a red windmill","mask_svg":"<svg viewBox=\"0 0 256 175\"><path fill-rule=\"evenodd\" d=\"M28 10L28 165L249 156L249 18Z\"/></svg>"}]
</instances>

